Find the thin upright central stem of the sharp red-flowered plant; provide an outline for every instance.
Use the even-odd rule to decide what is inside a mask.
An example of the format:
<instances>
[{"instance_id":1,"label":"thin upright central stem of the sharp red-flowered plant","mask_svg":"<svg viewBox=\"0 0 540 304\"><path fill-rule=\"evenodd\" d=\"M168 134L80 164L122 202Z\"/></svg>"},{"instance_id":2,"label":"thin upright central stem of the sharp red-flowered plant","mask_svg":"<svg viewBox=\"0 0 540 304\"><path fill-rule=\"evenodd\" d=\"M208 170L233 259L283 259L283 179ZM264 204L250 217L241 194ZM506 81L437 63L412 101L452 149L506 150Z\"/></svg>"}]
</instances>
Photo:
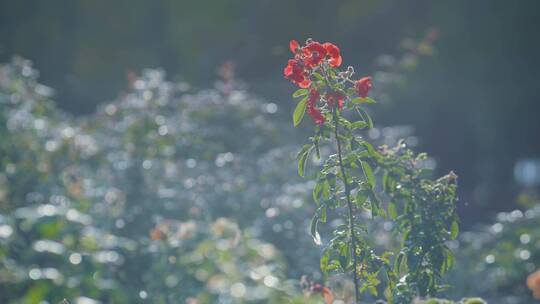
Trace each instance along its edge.
<instances>
[{"instance_id":1,"label":"thin upright central stem of the sharp red-flowered plant","mask_svg":"<svg viewBox=\"0 0 540 304\"><path fill-rule=\"evenodd\" d=\"M353 206L352 206L352 200L351 200L351 193L349 190L349 183L347 182L347 175L345 174L345 166L343 166L343 157L341 152L341 141L339 140L339 133L338 133L338 127L339 127L339 117L337 114L337 109L334 107L333 109L333 115L334 115L334 135L336 137L336 144L337 144L337 152L338 152L338 160L339 160L339 167L341 169L341 175L343 176L343 184L345 185L345 196L347 198L347 207L349 209L349 230L351 234L351 248L352 248L352 255L353 255L353 280L354 280L354 295L355 295L355 303L359 303L360 300L360 292L358 289L358 259L356 257L356 233L354 231L354 213L353 213Z\"/></svg>"}]
</instances>

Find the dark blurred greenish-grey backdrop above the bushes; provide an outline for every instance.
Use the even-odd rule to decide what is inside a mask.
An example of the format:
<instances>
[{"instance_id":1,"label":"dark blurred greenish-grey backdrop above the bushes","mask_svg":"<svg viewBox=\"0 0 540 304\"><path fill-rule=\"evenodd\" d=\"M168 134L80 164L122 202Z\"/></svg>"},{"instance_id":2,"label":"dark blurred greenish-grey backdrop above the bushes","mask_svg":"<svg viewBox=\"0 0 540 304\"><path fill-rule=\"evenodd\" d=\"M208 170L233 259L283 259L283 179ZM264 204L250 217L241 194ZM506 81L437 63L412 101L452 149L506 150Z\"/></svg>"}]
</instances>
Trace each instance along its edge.
<instances>
[{"instance_id":1,"label":"dark blurred greenish-grey backdrop above the bushes","mask_svg":"<svg viewBox=\"0 0 540 304\"><path fill-rule=\"evenodd\" d=\"M172 79L212 86L236 63L253 91L290 103L283 80L291 38L338 44L360 74L405 37L437 28L423 59L379 106L379 125L412 125L440 172L460 176L468 223L516 207L513 168L540 155L538 1L0 1L0 61L34 61L58 105L92 113L127 86L126 75L162 67Z\"/></svg>"}]
</instances>

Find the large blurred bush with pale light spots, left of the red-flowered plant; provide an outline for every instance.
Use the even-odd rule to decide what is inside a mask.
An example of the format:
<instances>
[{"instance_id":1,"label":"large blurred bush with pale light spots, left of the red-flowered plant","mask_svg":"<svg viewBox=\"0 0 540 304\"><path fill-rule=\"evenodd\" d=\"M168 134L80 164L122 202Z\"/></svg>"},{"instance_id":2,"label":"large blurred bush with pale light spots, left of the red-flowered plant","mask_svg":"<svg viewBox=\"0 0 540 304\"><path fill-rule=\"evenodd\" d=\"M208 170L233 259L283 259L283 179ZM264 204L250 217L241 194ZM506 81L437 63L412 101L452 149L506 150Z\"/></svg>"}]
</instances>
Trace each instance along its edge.
<instances>
[{"instance_id":1,"label":"large blurred bush with pale light spots, left of the red-flowered plant","mask_svg":"<svg viewBox=\"0 0 540 304\"><path fill-rule=\"evenodd\" d=\"M75 119L28 61L0 69L0 302L298 294L286 278L315 272L318 252L277 106L230 82L191 93L156 70L132 87Z\"/></svg>"}]
</instances>

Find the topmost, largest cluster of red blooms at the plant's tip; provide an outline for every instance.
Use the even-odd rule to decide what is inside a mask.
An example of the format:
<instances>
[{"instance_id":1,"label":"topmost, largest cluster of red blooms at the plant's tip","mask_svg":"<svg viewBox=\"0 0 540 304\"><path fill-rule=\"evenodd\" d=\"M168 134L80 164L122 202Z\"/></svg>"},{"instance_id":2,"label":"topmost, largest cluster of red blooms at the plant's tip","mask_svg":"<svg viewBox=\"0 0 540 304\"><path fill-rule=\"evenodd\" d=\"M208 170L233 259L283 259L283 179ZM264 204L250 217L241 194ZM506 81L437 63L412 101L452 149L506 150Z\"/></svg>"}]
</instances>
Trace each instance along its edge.
<instances>
[{"instance_id":1,"label":"topmost, largest cluster of red blooms at the plant's tip","mask_svg":"<svg viewBox=\"0 0 540 304\"><path fill-rule=\"evenodd\" d=\"M334 68L339 67L342 62L339 48L329 42L321 44L312 41L300 47L296 40L291 40L289 48L294 54L294 59L288 61L283 74L301 88L308 88L311 85L309 72L323 61L327 61Z\"/></svg>"}]
</instances>

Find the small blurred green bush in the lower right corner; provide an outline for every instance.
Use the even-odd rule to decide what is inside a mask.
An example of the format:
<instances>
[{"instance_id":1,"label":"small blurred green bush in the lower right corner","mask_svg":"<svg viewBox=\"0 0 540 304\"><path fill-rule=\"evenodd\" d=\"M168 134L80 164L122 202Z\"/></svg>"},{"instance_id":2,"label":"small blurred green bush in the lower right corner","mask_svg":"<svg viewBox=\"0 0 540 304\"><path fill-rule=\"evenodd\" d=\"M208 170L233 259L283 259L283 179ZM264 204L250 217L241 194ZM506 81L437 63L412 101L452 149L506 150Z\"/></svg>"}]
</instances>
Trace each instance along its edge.
<instances>
[{"instance_id":1,"label":"small blurred green bush in the lower right corner","mask_svg":"<svg viewBox=\"0 0 540 304\"><path fill-rule=\"evenodd\" d=\"M491 225L462 233L454 243L458 265L451 292L488 302L533 303L527 276L540 266L540 205L501 212Z\"/></svg>"}]
</instances>

